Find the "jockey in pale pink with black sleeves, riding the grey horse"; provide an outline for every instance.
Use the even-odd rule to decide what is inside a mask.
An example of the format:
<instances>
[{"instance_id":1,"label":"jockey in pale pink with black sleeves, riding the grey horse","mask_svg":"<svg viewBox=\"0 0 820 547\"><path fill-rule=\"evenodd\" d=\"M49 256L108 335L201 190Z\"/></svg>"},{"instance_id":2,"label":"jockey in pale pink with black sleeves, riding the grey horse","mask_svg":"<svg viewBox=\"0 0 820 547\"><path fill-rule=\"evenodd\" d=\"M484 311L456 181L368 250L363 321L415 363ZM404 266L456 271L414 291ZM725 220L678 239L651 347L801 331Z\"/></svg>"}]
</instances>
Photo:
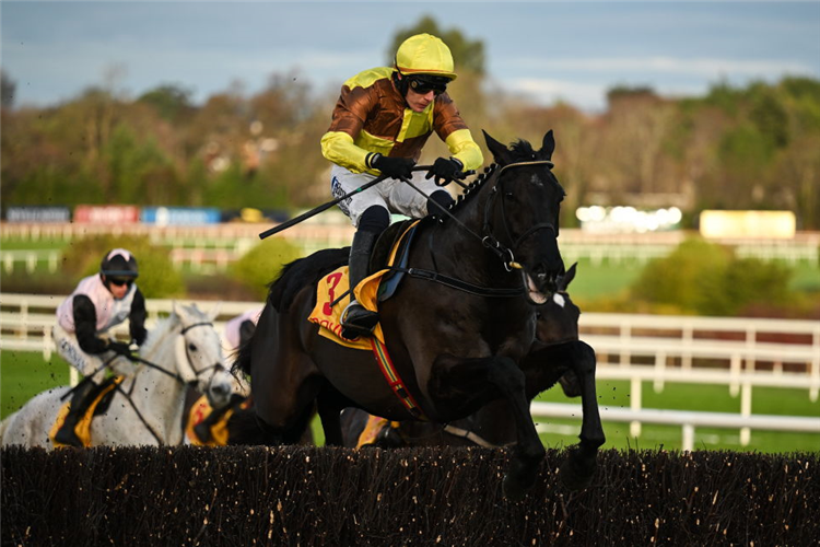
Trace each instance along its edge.
<instances>
[{"instance_id":1,"label":"jockey in pale pink with black sleeves, riding the grey horse","mask_svg":"<svg viewBox=\"0 0 820 547\"><path fill-rule=\"evenodd\" d=\"M107 336L110 328L129 319L130 335L138 346L145 341L145 299L134 284L137 258L124 249L105 254L99 274L80 281L57 309L54 337L57 352L85 376L75 388L66 421L55 435L60 444L82 446L74 433L77 422L99 392L106 366L132 372L128 344Z\"/></svg>"}]
</instances>

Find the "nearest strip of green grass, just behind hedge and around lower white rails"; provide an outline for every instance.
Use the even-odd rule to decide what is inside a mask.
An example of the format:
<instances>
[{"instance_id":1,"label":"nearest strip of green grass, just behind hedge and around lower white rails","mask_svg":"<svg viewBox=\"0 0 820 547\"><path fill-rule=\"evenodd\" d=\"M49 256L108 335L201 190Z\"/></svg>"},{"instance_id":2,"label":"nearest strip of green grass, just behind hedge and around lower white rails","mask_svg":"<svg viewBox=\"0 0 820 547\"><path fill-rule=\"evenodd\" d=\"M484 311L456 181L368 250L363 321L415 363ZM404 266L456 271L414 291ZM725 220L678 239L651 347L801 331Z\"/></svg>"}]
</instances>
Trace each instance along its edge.
<instances>
[{"instance_id":1,"label":"nearest strip of green grass, just behind hedge and around lower white rails","mask_svg":"<svg viewBox=\"0 0 820 547\"><path fill-rule=\"evenodd\" d=\"M0 419L15 411L37 393L66 385L69 381L68 364L56 354L49 362L40 353L3 351L0 353ZM599 406L630 405L629 382L599 381ZM729 395L728 387L694 384L667 384L661 393L655 393L651 383L642 389L644 408L668 408L676 410L701 410L713 412L739 412L740 400ZM567 403L559 387L550 389L537 400ZM786 416L820 416L820 400L809 400L807 389L781 389L757 387L752 392L754 414ZM581 420L544 420L548 428L541 433L541 441L550 447L569 446L577 443ZM323 444L325 437L318 419L312 423L314 439ZM631 438L629 423L606 422L605 447L680 450L681 429L672 426L643 426L640 438ZM752 431L751 443L740 445L739 432L730 429L696 429L695 446L710 450L757 451L787 453L798 451L820 451L820 437L803 433L780 433Z\"/></svg>"}]
</instances>

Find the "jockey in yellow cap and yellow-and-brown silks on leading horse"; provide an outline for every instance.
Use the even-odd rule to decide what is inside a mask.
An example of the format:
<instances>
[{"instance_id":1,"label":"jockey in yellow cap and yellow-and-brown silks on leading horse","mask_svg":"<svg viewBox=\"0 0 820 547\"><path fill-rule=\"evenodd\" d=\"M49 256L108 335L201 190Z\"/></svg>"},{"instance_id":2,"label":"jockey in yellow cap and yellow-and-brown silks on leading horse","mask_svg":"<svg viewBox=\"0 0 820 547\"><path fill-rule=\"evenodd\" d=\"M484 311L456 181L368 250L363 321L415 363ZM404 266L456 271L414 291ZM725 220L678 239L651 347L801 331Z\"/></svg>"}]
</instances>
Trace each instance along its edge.
<instances>
[{"instance_id":1,"label":"jockey in yellow cap and yellow-and-brown silks on leading horse","mask_svg":"<svg viewBox=\"0 0 820 547\"><path fill-rule=\"evenodd\" d=\"M323 155L335 163L333 196L341 197L379 174L390 177L339 203L356 226L350 249L351 301L341 318L345 338L367 336L378 323L378 314L359 304L352 289L367 277L371 252L390 223L390 213L414 218L435 213L437 208L427 199L448 207L453 197L440 186L483 163L481 149L446 92L456 79L453 69L453 55L444 42L418 34L399 46L393 67L365 70L342 85L330 128L321 138ZM412 173L433 131L452 155L438 158L426 176ZM429 197L400 178L412 179Z\"/></svg>"}]
</instances>

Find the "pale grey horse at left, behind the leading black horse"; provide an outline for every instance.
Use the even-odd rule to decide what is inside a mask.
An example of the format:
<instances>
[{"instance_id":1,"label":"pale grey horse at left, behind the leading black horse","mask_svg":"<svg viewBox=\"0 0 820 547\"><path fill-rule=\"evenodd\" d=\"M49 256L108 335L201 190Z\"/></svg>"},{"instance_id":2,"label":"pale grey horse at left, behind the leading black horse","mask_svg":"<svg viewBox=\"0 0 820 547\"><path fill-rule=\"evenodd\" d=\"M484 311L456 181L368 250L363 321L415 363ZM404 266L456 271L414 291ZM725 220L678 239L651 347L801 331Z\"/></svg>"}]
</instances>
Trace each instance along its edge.
<instances>
[{"instance_id":1,"label":"pale grey horse at left, behind the leading black horse","mask_svg":"<svg viewBox=\"0 0 820 547\"><path fill-rule=\"evenodd\" d=\"M215 407L227 405L236 385L225 366L214 313L174 305L142 345L137 369L115 388L105 414L91 421L91 445L177 445L188 386ZM0 423L2 445L52 449L55 421L69 386L43 392Z\"/></svg>"}]
</instances>

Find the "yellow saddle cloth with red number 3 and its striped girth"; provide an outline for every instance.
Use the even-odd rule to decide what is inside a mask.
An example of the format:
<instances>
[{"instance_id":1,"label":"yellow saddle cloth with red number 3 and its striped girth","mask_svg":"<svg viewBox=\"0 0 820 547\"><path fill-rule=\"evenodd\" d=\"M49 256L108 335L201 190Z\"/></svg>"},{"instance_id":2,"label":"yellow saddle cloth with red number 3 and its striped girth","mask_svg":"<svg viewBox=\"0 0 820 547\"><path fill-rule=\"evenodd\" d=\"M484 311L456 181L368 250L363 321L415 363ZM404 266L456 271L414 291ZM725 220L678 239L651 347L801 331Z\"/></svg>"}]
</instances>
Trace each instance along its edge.
<instances>
[{"instance_id":1,"label":"yellow saddle cloth with red number 3 and its striped girth","mask_svg":"<svg viewBox=\"0 0 820 547\"><path fill-rule=\"evenodd\" d=\"M389 298L396 290L402 274L396 274L394 267L398 263L399 268L403 268L407 263L407 255L415 226L420 221L407 221L405 224L397 226L401 233L396 237L390 247L386 266L366 277L358 287L354 288L356 301L372 312L378 312L377 304ZM393 228L393 226L391 226ZM378 363L390 388L401 400L408 411L420 419L424 419L413 396L405 387L393 360L385 346L385 334L382 325L377 324L373 329L373 336L360 336L353 339L341 336L341 313L350 303L350 295L344 294L349 288L348 267L342 266L323 277L316 286L316 306L314 307L307 321L319 325L319 335L335 341L341 346L354 349L371 350ZM344 294L343 298L339 295Z\"/></svg>"}]
</instances>

